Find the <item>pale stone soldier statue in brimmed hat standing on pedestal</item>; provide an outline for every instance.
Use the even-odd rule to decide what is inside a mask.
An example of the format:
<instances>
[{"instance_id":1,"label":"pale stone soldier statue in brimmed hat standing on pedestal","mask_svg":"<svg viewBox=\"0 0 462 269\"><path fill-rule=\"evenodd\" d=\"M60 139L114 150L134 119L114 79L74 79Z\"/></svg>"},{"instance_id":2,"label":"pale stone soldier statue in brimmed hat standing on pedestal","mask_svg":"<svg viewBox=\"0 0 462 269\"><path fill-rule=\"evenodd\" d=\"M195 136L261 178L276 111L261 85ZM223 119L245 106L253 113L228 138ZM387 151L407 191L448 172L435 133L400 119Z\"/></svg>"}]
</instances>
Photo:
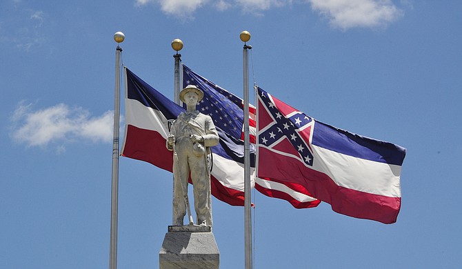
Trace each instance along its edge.
<instances>
[{"instance_id":1,"label":"pale stone soldier statue in brimmed hat standing on pedestal","mask_svg":"<svg viewBox=\"0 0 462 269\"><path fill-rule=\"evenodd\" d=\"M173 122L166 142L168 150L174 151L173 225L183 226L191 175L197 224L212 226L208 155L210 147L219 142L218 133L212 118L196 110L197 103L203 98L202 90L188 85L181 90L179 98L187 109Z\"/></svg>"}]
</instances>

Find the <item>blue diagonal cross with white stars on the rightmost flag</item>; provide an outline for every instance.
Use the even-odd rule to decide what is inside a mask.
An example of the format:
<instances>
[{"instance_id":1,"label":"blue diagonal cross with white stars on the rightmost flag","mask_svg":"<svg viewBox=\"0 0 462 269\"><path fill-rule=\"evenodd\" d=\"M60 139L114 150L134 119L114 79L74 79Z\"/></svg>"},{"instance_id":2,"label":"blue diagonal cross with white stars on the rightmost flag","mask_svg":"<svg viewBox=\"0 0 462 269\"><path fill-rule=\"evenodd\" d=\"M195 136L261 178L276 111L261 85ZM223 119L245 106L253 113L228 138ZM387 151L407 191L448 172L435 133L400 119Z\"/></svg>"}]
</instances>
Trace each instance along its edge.
<instances>
[{"instance_id":1,"label":"blue diagonal cross with white stars on the rightmost flag","mask_svg":"<svg viewBox=\"0 0 462 269\"><path fill-rule=\"evenodd\" d=\"M312 126L312 132L314 120L299 111L284 115L276 108L273 101L268 97L267 92L259 89L259 95L261 103L263 103L263 106L265 106L273 119L273 122L268 124L268 126L260 126L260 128L264 128L264 131L259 133L260 143L268 148L272 148L277 143L287 138L294 149L299 152L301 160L308 166L313 166L311 148L307 145L306 141L300 137L299 132L303 132L303 130L310 126ZM310 138L310 135L308 135L308 137Z\"/></svg>"}]
</instances>

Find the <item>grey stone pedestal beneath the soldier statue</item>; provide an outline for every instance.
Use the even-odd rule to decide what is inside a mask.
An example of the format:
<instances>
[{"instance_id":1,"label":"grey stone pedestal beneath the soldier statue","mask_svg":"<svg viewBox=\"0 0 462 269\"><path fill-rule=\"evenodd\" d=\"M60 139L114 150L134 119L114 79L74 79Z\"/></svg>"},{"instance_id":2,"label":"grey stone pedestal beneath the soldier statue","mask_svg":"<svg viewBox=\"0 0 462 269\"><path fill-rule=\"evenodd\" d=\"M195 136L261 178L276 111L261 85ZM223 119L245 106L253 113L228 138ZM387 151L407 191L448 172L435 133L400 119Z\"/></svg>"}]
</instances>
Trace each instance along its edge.
<instances>
[{"instance_id":1,"label":"grey stone pedestal beneath the soldier statue","mask_svg":"<svg viewBox=\"0 0 462 269\"><path fill-rule=\"evenodd\" d=\"M168 226L159 251L160 269L218 269L220 252L210 226Z\"/></svg>"}]
</instances>

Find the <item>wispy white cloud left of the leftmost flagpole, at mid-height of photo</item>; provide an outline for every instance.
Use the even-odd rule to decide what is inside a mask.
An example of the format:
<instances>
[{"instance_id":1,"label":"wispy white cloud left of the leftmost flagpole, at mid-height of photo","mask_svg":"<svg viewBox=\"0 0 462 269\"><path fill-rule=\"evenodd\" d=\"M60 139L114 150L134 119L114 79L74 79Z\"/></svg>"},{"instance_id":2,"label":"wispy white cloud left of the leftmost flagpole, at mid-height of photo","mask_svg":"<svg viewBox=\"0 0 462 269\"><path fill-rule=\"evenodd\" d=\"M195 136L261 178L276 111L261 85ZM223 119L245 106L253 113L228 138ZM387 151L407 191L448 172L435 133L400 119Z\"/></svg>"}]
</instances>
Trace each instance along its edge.
<instances>
[{"instance_id":1,"label":"wispy white cloud left of the leftmost flagpole, at mid-height of photo","mask_svg":"<svg viewBox=\"0 0 462 269\"><path fill-rule=\"evenodd\" d=\"M33 104L19 103L10 118L10 136L26 146L57 146L63 152L67 143L112 141L113 112L92 117L83 108L70 108L64 103L34 110Z\"/></svg>"}]
</instances>

